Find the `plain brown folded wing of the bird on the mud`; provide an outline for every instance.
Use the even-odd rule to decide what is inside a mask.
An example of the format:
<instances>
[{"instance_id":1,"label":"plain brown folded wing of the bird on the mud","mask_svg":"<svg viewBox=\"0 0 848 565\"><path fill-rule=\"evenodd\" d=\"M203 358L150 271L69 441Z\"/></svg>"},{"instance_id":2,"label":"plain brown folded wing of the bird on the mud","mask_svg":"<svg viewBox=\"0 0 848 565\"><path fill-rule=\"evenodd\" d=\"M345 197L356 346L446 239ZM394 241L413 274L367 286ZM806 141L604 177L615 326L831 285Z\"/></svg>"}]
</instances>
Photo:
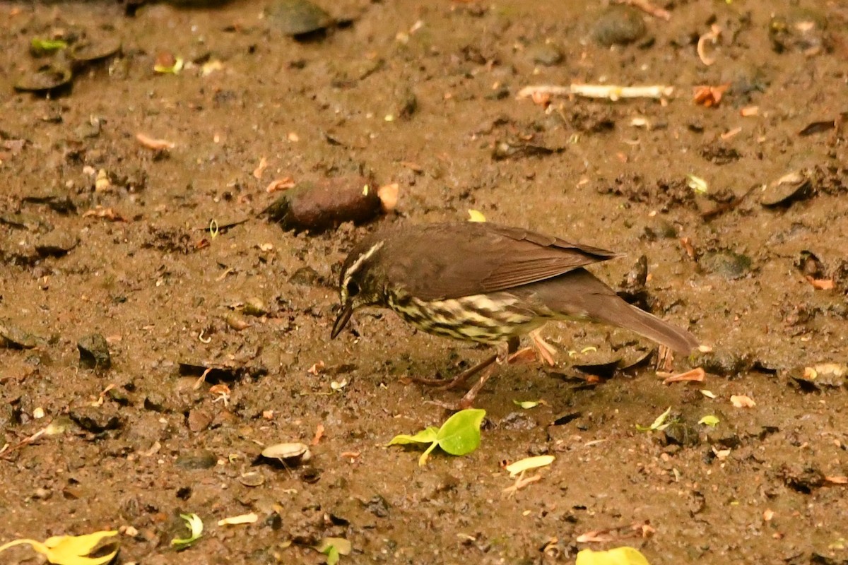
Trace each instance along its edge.
<instances>
[{"instance_id":1,"label":"plain brown folded wing of the bird on the mud","mask_svg":"<svg viewBox=\"0 0 848 565\"><path fill-rule=\"evenodd\" d=\"M423 300L503 291L617 257L598 247L488 222L404 227L388 235L383 252L393 258L382 261L388 280Z\"/></svg>"}]
</instances>

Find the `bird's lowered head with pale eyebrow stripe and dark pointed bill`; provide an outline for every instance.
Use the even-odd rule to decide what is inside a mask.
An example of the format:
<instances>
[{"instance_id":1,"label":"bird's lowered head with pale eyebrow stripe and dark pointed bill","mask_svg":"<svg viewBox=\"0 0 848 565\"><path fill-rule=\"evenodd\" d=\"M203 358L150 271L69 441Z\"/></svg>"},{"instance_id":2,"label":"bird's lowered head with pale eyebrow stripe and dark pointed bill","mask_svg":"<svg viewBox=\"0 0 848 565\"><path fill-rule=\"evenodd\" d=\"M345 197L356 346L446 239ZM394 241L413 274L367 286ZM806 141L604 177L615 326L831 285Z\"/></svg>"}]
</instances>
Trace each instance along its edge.
<instances>
[{"instance_id":1,"label":"bird's lowered head with pale eyebrow stripe and dark pointed bill","mask_svg":"<svg viewBox=\"0 0 848 565\"><path fill-rule=\"evenodd\" d=\"M354 310L383 302L383 289L379 269L380 250L384 241L363 241L354 247L344 260L338 276L338 293L342 299L342 311L332 324L330 336L335 338L348 324Z\"/></svg>"}]
</instances>

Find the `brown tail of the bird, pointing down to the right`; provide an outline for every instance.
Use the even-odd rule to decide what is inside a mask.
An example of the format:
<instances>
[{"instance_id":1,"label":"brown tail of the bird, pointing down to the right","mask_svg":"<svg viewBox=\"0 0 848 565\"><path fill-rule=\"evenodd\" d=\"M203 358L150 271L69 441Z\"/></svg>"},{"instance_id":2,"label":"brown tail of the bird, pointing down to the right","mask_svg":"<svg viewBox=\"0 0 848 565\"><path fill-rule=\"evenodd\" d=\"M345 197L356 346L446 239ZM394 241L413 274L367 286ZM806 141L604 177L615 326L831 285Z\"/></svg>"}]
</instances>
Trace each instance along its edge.
<instances>
[{"instance_id":1,"label":"brown tail of the bird, pointing down to the right","mask_svg":"<svg viewBox=\"0 0 848 565\"><path fill-rule=\"evenodd\" d=\"M678 353L689 354L699 345L695 335L628 304L585 269L574 269L525 288L544 307L565 318L615 325Z\"/></svg>"}]
</instances>

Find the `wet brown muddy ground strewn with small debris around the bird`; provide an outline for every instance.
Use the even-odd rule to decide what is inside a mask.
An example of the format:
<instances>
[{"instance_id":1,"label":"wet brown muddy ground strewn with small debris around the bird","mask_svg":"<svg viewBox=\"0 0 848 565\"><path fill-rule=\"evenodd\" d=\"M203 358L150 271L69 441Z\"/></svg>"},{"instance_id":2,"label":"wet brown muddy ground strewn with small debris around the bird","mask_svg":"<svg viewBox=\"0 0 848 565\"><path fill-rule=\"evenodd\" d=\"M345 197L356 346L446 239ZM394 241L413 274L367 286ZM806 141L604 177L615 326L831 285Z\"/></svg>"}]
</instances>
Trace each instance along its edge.
<instances>
[{"instance_id":1,"label":"wet brown muddy ground strewn with small debris around the bird","mask_svg":"<svg viewBox=\"0 0 848 565\"><path fill-rule=\"evenodd\" d=\"M848 562L845 3L659 3L670 19L640 13L613 47L601 2L325 4L342 25L302 42L261 2L0 3L0 540L120 529L118 561L149 564L317 563L326 536L351 542L342 563ZM81 32L120 55L14 91L42 64L32 38ZM162 53L179 74L154 72ZM572 82L673 92L516 99ZM395 211L204 230L253 218L273 180L354 174L397 183ZM330 341L339 264L380 225L470 209L625 253L594 269L611 285L644 255L631 294L713 348L671 368L706 379L664 385L652 359L592 376L575 365L650 344L550 326L557 367L510 365L478 396L477 451L419 468L385 447L459 397L402 378L488 351L379 311ZM81 362L92 335L110 368ZM667 407L667 429L636 429ZM257 460L321 426L309 463ZM539 454L555 462L505 491L501 463ZM176 552L181 512L206 530Z\"/></svg>"}]
</instances>

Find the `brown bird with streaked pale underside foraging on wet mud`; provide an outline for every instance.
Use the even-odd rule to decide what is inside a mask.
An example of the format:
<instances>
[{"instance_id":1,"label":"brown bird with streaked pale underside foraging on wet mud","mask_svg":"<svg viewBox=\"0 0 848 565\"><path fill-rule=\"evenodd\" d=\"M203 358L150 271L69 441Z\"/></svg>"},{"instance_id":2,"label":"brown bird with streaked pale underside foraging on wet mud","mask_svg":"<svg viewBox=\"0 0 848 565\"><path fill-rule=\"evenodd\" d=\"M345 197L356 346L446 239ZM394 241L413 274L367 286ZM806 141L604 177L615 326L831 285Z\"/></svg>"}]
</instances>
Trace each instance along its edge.
<instances>
[{"instance_id":1,"label":"brown bird with streaked pale underside foraging on wet mud","mask_svg":"<svg viewBox=\"0 0 848 565\"><path fill-rule=\"evenodd\" d=\"M341 309L331 337L360 307L384 307L428 334L505 346L507 353L516 352L523 335L538 339L538 330L554 320L625 328L683 354L698 347L688 330L625 302L585 269L617 257L600 247L490 222L395 225L366 236L344 260ZM488 357L449 381L445 388L482 374L456 407L471 406L493 363L504 358L503 352Z\"/></svg>"}]
</instances>

